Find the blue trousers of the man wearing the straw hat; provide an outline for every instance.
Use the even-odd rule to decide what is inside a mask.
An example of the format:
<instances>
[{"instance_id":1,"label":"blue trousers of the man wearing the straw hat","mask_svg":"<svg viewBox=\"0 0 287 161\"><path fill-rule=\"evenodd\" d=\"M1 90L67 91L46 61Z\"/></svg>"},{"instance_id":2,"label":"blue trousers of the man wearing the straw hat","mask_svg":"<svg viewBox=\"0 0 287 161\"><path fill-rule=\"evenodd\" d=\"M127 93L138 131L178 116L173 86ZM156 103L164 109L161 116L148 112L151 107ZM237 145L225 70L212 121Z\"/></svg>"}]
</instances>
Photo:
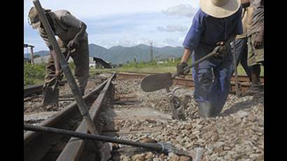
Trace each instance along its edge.
<instances>
[{"instance_id":1,"label":"blue trousers of the man wearing the straw hat","mask_svg":"<svg viewBox=\"0 0 287 161\"><path fill-rule=\"evenodd\" d=\"M211 51L212 49L199 45L193 55L193 61L197 61ZM216 113L221 111L230 92L231 64L232 55L228 46L227 56L210 57L193 68L196 102L211 102Z\"/></svg>"}]
</instances>

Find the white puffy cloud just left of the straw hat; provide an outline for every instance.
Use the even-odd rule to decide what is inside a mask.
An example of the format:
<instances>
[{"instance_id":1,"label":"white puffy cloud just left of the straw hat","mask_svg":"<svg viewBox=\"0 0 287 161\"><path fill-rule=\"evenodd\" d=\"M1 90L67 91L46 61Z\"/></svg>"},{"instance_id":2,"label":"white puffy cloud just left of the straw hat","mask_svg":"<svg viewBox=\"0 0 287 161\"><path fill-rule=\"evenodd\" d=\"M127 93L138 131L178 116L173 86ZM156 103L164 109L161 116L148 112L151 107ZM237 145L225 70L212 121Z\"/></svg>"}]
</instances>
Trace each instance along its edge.
<instances>
[{"instance_id":1,"label":"white puffy cloud just left of the straw hat","mask_svg":"<svg viewBox=\"0 0 287 161\"><path fill-rule=\"evenodd\" d=\"M179 4L177 6L167 8L167 10L162 10L162 13L165 15L179 15L191 18L195 14L195 11L195 8L190 6L190 4Z\"/></svg>"}]
</instances>

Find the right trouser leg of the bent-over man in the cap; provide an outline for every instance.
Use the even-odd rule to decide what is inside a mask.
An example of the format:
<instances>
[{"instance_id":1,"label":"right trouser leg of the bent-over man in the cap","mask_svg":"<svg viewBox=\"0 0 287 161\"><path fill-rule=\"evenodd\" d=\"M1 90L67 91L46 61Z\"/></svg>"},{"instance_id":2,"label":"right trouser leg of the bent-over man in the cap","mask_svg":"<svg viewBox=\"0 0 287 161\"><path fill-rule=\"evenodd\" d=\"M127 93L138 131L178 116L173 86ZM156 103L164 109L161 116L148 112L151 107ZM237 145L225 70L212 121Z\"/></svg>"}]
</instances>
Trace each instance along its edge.
<instances>
[{"instance_id":1,"label":"right trouser leg of the bent-over man in the cap","mask_svg":"<svg viewBox=\"0 0 287 161\"><path fill-rule=\"evenodd\" d=\"M89 46L87 40L80 41L76 52L73 52L73 62L75 63L75 78L78 81L80 92L85 94L85 86L89 79Z\"/></svg>"}]
</instances>

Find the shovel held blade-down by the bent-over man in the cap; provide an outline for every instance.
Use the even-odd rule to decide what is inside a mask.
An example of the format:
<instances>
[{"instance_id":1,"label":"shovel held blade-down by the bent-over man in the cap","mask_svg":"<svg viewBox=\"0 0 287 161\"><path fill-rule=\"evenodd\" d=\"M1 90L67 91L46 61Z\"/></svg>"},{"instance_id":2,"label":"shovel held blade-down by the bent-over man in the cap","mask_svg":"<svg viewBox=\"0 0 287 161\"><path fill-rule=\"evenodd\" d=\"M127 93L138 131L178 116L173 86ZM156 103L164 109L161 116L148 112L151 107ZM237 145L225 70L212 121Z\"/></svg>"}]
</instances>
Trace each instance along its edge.
<instances>
[{"instance_id":1,"label":"shovel held blade-down by the bent-over man in the cap","mask_svg":"<svg viewBox=\"0 0 287 161\"><path fill-rule=\"evenodd\" d=\"M66 55L66 62L68 62L69 60L70 52L71 50L69 50ZM48 85L47 87L45 87L43 106L55 105L58 104L59 102L59 88L57 87L59 84L59 79L58 78L55 79L56 80L53 85Z\"/></svg>"}]
</instances>

